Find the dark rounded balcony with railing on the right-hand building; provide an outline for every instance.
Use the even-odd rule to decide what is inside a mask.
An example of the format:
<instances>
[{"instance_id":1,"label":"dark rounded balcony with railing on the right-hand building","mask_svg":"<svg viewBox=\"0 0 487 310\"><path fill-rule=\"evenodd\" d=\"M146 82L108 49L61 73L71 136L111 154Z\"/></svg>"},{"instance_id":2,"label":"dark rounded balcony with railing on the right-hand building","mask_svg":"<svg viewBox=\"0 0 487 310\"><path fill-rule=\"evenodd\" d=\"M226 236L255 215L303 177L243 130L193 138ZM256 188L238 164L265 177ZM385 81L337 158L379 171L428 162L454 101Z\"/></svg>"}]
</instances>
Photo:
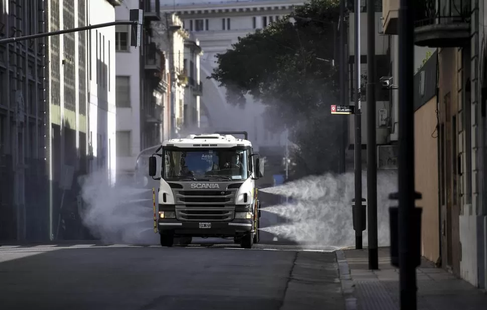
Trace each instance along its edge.
<instances>
[{"instance_id":1,"label":"dark rounded balcony with railing on the right-hand building","mask_svg":"<svg viewBox=\"0 0 487 310\"><path fill-rule=\"evenodd\" d=\"M470 0L414 0L415 44L432 48L470 44Z\"/></svg>"}]
</instances>

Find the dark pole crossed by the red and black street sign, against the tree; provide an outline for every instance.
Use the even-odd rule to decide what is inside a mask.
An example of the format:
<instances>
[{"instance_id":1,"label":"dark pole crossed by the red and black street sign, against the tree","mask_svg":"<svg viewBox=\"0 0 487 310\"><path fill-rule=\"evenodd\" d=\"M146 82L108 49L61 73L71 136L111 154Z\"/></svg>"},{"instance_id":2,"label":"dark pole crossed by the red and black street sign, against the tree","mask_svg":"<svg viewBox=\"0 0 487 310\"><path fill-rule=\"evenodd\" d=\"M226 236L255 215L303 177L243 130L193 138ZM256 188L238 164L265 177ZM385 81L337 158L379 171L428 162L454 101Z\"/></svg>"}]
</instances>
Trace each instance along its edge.
<instances>
[{"instance_id":1,"label":"dark pole crossed by the red and black street sign, against the tree","mask_svg":"<svg viewBox=\"0 0 487 310\"><path fill-rule=\"evenodd\" d=\"M338 53L340 54L338 56L338 61L339 61L339 79L340 79L340 104L342 106L348 105L346 103L346 94L345 94L345 1L346 0L341 0L340 1L340 22L338 23L338 31L339 33L339 43L338 43ZM345 165L345 159L346 159L346 145L347 145L347 119L345 117L342 117L342 148L343 148L343 154L342 154L342 162L341 162L341 171L342 173L346 172L346 165Z\"/></svg>"}]
</instances>

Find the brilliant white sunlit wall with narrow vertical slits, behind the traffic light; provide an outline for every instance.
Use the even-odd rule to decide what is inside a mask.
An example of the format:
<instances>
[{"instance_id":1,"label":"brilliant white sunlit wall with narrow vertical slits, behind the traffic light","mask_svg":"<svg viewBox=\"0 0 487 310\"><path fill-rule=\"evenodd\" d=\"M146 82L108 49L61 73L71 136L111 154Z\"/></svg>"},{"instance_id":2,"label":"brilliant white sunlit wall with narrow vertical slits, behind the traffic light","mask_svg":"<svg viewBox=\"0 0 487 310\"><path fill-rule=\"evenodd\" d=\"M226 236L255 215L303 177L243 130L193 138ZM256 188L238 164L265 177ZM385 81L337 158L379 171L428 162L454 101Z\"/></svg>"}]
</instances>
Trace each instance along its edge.
<instances>
[{"instance_id":1,"label":"brilliant white sunlit wall with narrow vertical slits, behind the traffic light","mask_svg":"<svg viewBox=\"0 0 487 310\"><path fill-rule=\"evenodd\" d=\"M88 23L101 24L115 20L115 9L105 0L88 1ZM91 79L88 76L89 105L88 105L88 138L93 147L93 155L99 151L106 158L102 169L107 170L110 182L115 182L116 157L115 157L115 28L105 27L91 30L90 50L88 52L88 66L91 63ZM98 37L96 35L98 34ZM101 46L100 46L101 36ZM90 36L88 36L89 40ZM97 40L97 41L96 41ZM98 47L98 51L96 50ZM91 57L91 61L89 58ZM97 72L97 60L106 65L101 71L99 79ZM105 71L106 70L106 71ZM105 80L101 78L105 75ZM104 82L106 81L106 82ZM106 83L106 85L104 84ZM105 101L106 103L102 102ZM103 106L106 106L103 107ZM101 140L98 135L101 134ZM99 160L99 159L97 159ZM96 170L96 160L91 163L91 171Z\"/></svg>"}]
</instances>

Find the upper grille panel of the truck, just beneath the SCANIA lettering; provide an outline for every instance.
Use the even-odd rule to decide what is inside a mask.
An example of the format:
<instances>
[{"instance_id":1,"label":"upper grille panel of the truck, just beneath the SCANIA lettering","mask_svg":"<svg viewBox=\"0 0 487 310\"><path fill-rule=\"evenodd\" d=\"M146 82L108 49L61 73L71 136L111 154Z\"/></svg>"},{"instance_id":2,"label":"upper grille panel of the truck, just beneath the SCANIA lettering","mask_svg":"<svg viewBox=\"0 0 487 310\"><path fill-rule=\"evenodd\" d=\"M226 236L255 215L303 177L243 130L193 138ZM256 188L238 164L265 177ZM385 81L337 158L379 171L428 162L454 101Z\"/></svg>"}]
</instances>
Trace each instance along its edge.
<instances>
[{"instance_id":1,"label":"upper grille panel of the truck, just beneath the SCANIA lettering","mask_svg":"<svg viewBox=\"0 0 487 310\"><path fill-rule=\"evenodd\" d=\"M175 191L176 204L191 205L233 205L236 190L233 191Z\"/></svg>"}]
</instances>

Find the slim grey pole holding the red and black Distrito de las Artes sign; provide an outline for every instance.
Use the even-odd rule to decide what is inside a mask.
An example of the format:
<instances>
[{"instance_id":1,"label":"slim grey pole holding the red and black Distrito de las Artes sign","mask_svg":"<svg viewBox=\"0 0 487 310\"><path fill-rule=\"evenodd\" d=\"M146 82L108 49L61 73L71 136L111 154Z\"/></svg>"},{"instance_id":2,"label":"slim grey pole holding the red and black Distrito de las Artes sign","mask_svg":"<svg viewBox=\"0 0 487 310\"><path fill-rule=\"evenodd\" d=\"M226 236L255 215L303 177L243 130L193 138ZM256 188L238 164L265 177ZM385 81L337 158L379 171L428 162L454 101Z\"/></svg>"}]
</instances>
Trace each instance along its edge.
<instances>
[{"instance_id":1,"label":"slim grey pole holding the red and black Distrito de las Artes sign","mask_svg":"<svg viewBox=\"0 0 487 310\"><path fill-rule=\"evenodd\" d=\"M355 216L362 222L362 124L360 112L360 0L355 0ZM362 249L362 230L355 230L355 248Z\"/></svg>"}]
</instances>

